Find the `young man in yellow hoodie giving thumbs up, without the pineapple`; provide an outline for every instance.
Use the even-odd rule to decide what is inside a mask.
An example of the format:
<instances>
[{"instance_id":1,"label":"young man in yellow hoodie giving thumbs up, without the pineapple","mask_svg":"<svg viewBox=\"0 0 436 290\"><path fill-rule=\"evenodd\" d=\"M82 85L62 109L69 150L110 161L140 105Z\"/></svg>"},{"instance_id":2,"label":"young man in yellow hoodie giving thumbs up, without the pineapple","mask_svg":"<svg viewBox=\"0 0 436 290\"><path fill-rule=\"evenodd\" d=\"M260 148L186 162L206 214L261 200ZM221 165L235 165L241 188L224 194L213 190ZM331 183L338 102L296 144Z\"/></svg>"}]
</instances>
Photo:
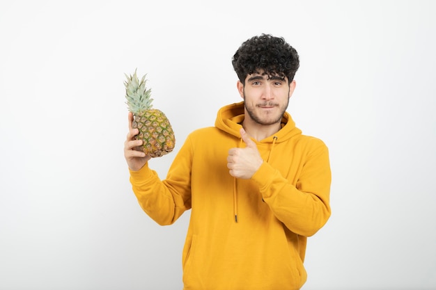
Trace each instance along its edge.
<instances>
[{"instance_id":1,"label":"young man in yellow hoodie giving thumbs up, without the pineapple","mask_svg":"<svg viewBox=\"0 0 436 290\"><path fill-rule=\"evenodd\" d=\"M192 209L185 290L300 289L306 237L330 216L328 150L286 112L299 58L283 38L247 40L233 67L244 102L221 108L215 127L189 134L163 181L148 168L150 156L134 150L142 141L129 115L130 182L160 225Z\"/></svg>"}]
</instances>

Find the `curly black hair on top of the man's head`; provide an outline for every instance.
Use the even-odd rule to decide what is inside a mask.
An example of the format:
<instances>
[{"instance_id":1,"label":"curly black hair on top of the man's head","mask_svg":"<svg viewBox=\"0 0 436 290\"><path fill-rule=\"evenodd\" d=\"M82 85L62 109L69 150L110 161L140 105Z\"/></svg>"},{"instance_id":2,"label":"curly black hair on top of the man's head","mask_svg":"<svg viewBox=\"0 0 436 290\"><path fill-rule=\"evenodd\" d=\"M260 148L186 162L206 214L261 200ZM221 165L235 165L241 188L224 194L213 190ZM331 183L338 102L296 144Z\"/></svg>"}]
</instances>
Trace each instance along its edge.
<instances>
[{"instance_id":1,"label":"curly black hair on top of the man's head","mask_svg":"<svg viewBox=\"0 0 436 290\"><path fill-rule=\"evenodd\" d=\"M260 71L269 76L286 76L291 82L299 67L299 57L283 38L262 34L242 43L232 64L242 83L247 75Z\"/></svg>"}]
</instances>

